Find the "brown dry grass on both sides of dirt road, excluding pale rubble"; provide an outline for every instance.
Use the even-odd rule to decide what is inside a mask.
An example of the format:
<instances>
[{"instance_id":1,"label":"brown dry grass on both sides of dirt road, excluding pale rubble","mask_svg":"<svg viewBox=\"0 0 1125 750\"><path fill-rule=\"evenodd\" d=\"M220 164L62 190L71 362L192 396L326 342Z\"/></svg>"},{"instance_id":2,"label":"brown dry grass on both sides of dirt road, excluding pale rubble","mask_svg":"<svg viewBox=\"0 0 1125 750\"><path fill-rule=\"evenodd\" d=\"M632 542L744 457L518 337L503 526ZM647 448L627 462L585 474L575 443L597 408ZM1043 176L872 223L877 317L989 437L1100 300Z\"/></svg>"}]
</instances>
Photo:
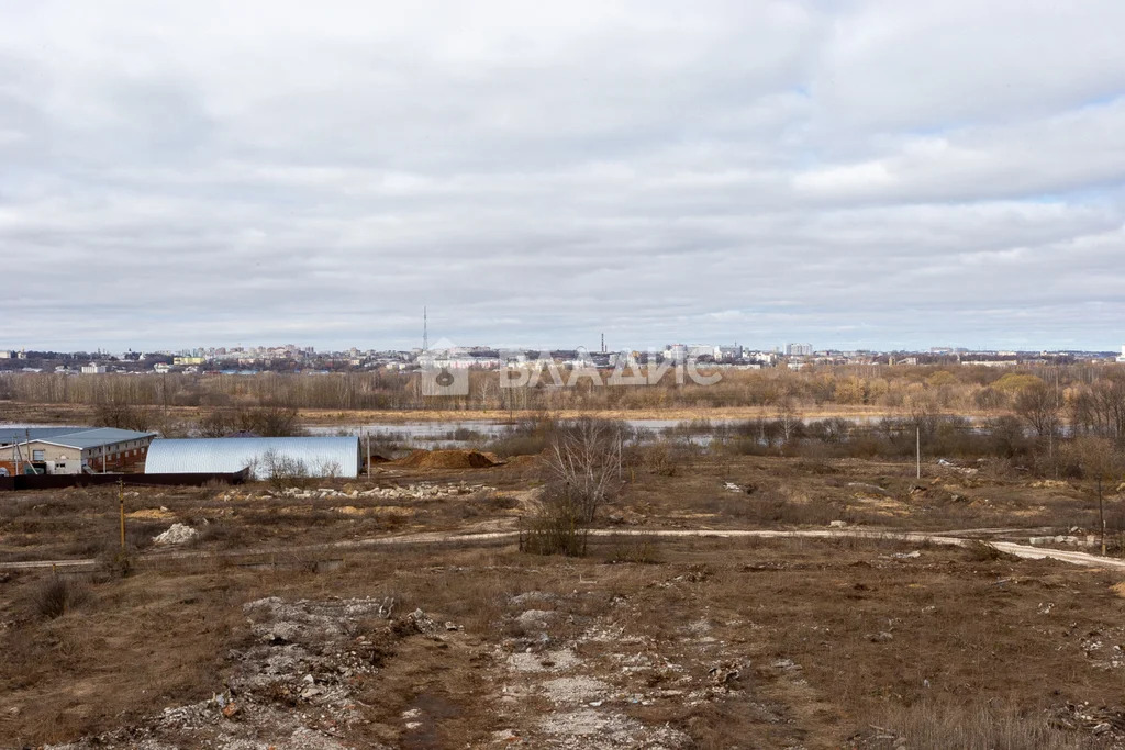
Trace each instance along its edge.
<instances>
[{"instance_id":1,"label":"brown dry grass on both sides of dirt road, excluding pale rubble","mask_svg":"<svg viewBox=\"0 0 1125 750\"><path fill-rule=\"evenodd\" d=\"M672 466L664 459L634 464L633 481L612 508L622 523L1030 527L1070 523L1090 505L1078 489L1037 487L1006 472L948 470L918 482L908 466L872 461L686 457ZM264 596L393 597L398 613L422 608L461 627L456 643L418 636L386 644L380 671L362 688L370 724L348 738L358 746L486 744L493 731L530 726L536 712L550 706L540 698L502 703L511 675L496 654L557 644L574 644L598 679L623 680L622 694L651 697L688 680L675 698L614 710L684 732L700 748L893 747L871 725L911 748L1097 747L1086 730L1048 725L1047 713L1066 703L1120 706L1113 647L1125 643L1125 598L1112 588L1120 581L1015 561L988 545L591 537L585 558L531 555L514 544L286 551L287 544L466 527L467 519L514 523L514 493L534 484L510 467L384 475L372 484L422 480L479 481L501 491L399 504L263 500L253 487L142 489L129 509L166 507L169 517L130 519L137 534L178 519L200 528L196 550L266 553L136 557L127 578L73 584L89 590L87 604L75 613L81 597L68 593L57 617L48 614L58 611L54 605L36 603L37 594L58 598L48 591L55 586L50 573L0 576L0 694L4 710L18 710L0 712L0 747L72 740L219 690L235 665L228 653L246 638L240 607ZM116 490L4 499L0 554L8 559L115 549ZM550 614L547 631L519 621L529 609ZM620 635L584 640L600 629ZM614 661L622 644L633 650L626 657L659 659L622 672ZM736 662L736 688L685 697L710 685L712 667ZM786 662L794 667L777 666ZM295 701L277 698L279 705ZM429 733L407 733L399 715L414 707L446 719Z\"/></svg>"}]
</instances>

